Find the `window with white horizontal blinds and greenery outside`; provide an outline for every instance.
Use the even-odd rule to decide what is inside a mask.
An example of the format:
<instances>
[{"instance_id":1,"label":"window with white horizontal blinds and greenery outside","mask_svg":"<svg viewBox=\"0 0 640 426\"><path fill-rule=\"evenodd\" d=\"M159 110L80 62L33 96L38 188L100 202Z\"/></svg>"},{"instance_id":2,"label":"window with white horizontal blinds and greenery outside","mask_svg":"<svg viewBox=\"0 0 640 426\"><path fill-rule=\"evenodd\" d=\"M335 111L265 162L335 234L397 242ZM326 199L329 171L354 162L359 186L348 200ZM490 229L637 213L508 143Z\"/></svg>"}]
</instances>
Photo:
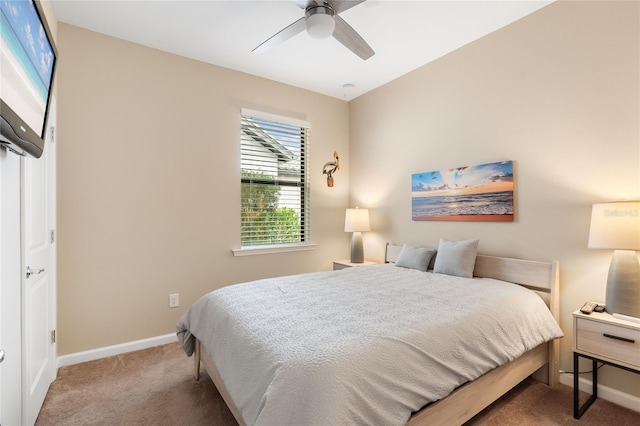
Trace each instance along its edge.
<instances>
[{"instance_id":1,"label":"window with white horizontal blinds and greenery outside","mask_svg":"<svg viewBox=\"0 0 640 426\"><path fill-rule=\"evenodd\" d=\"M309 242L308 123L242 110L243 248Z\"/></svg>"}]
</instances>

